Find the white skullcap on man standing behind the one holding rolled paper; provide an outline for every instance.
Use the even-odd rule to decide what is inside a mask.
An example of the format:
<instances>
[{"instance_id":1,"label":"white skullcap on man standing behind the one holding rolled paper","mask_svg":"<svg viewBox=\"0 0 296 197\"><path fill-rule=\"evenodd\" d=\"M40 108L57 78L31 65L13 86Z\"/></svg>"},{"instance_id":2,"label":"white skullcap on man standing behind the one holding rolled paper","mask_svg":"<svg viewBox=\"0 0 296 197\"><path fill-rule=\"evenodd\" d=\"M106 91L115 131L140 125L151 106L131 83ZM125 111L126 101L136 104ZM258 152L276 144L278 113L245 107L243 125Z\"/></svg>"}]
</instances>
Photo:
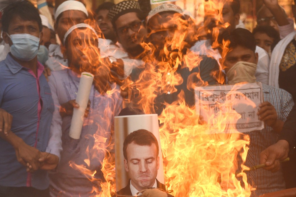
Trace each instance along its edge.
<instances>
[{"instance_id":1,"label":"white skullcap on man standing behind the one holding rolled paper","mask_svg":"<svg viewBox=\"0 0 296 197\"><path fill-rule=\"evenodd\" d=\"M84 12L87 17L89 16L89 13L87 12L87 9L83 5L83 3L81 3L80 1L68 0L68 1L64 1L62 4L60 4L57 7L57 10L54 13L54 18L57 20L57 17L59 17L59 15L62 12L65 12L67 10L79 10L81 12Z\"/></svg>"}]
</instances>

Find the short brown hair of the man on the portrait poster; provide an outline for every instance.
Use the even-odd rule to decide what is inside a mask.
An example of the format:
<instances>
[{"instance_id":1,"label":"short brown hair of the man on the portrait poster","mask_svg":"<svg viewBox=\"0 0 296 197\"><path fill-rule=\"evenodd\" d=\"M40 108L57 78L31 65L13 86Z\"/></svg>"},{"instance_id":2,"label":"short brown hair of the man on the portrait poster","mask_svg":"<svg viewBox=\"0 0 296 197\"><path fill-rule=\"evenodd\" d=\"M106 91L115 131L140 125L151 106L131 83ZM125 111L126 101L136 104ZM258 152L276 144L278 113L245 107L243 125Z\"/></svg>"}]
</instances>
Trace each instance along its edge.
<instances>
[{"instance_id":1,"label":"short brown hair of the man on the portrait poster","mask_svg":"<svg viewBox=\"0 0 296 197\"><path fill-rule=\"evenodd\" d=\"M152 144L155 144L156 152L158 155L159 146L156 137L150 131L147 131L145 129L139 129L128 134L128 136L123 142L123 156L126 160L128 159L126 149L128 147L128 144L131 144L132 142L140 146L151 146Z\"/></svg>"}]
</instances>

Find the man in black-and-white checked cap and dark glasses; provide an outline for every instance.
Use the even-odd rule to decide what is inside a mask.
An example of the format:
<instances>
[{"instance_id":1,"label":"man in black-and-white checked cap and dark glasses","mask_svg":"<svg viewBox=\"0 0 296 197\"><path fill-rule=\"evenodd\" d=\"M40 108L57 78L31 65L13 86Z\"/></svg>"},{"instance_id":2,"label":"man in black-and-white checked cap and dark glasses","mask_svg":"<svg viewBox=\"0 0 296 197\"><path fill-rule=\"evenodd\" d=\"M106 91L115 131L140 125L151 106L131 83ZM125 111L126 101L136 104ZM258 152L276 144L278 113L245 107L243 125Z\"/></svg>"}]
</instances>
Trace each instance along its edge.
<instances>
[{"instance_id":1,"label":"man in black-and-white checked cap and dark glasses","mask_svg":"<svg viewBox=\"0 0 296 197\"><path fill-rule=\"evenodd\" d=\"M125 76L128 76L134 67L143 64L141 59L144 57L144 48L141 43L147 35L146 16L141 11L138 1L128 0L114 5L109 10L108 17L112 22L118 42L128 53L126 57L121 57L124 62Z\"/></svg>"}]
</instances>

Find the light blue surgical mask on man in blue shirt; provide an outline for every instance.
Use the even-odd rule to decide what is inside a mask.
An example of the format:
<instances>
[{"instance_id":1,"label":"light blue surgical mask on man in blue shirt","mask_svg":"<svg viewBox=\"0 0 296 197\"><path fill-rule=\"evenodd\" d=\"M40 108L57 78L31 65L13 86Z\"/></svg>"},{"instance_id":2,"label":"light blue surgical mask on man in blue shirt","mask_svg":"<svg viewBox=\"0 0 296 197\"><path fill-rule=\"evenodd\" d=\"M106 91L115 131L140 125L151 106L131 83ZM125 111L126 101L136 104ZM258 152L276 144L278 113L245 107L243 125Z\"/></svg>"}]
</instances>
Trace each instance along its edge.
<instances>
[{"instance_id":1,"label":"light blue surgical mask on man in blue shirt","mask_svg":"<svg viewBox=\"0 0 296 197\"><path fill-rule=\"evenodd\" d=\"M36 57L40 38L30 34L12 34L9 38L12 41L10 52L15 58L30 61Z\"/></svg>"}]
</instances>

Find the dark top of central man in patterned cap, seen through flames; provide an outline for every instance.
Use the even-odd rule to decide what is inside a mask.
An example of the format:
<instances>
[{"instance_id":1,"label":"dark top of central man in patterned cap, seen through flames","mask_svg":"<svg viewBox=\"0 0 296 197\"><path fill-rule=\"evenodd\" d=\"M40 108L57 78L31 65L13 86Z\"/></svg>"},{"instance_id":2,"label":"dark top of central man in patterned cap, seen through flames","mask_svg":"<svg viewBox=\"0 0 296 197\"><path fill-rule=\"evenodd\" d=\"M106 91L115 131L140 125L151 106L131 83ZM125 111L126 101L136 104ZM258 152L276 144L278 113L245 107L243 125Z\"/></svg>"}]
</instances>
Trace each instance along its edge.
<instances>
[{"instance_id":1,"label":"dark top of central man in patterned cap, seen through flames","mask_svg":"<svg viewBox=\"0 0 296 197\"><path fill-rule=\"evenodd\" d=\"M165 108L165 103L172 104L174 101L178 100L178 96L181 93L181 91L184 92L184 100L186 102L186 105L189 107L193 107L195 105L195 97L194 97L194 89L192 89L192 84L196 84L198 86L203 85L204 83L208 85L218 85L219 82L217 80L219 74L219 65L218 62L210 57L207 56L198 56L201 61L199 64L195 65L194 68L190 69L190 67L186 66L180 66L175 71L176 74L179 74L183 82L179 85L175 85L175 91L174 92L162 92L159 89L155 89L155 95L156 98L153 101L153 107L154 112L158 115L161 114L163 109ZM186 62L182 61L181 65L185 65ZM191 65L189 65L191 66ZM133 69L130 77L131 80L134 82L133 87L133 93L131 100L134 100L135 103L137 103L137 97L140 96L138 92L138 83L145 83L150 84L151 77L149 74L145 74L145 76L141 76L143 71L146 71L145 69L147 66L137 67ZM156 67L155 67L156 69ZM215 74L214 74L215 73ZM197 74L200 75L200 79L196 76ZM139 76L141 76L140 81Z\"/></svg>"}]
</instances>

